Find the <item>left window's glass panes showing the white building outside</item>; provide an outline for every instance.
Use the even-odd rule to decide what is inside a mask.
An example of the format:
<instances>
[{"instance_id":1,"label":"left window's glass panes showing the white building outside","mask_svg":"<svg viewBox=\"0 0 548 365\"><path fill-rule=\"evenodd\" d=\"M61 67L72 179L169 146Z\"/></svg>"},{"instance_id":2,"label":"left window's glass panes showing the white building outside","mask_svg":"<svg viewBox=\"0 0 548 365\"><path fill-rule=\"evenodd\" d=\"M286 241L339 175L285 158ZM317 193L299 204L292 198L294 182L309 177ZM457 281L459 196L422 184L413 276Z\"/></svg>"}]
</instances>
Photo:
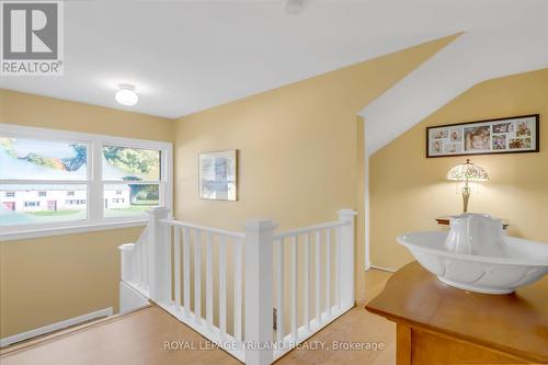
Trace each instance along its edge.
<instances>
[{"instance_id":1,"label":"left window's glass panes showing the white building outside","mask_svg":"<svg viewBox=\"0 0 548 365\"><path fill-rule=\"evenodd\" d=\"M0 225L87 219L88 146L0 137Z\"/></svg>"}]
</instances>

